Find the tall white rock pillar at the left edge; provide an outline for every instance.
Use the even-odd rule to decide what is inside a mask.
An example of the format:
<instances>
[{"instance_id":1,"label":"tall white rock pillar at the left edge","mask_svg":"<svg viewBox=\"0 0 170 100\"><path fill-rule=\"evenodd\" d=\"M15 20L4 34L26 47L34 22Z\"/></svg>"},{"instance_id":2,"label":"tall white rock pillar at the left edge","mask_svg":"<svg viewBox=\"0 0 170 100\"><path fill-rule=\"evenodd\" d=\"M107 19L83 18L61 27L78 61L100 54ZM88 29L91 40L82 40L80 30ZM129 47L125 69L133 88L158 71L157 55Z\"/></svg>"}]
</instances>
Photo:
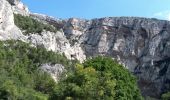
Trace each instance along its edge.
<instances>
[{"instance_id":1,"label":"tall white rock pillar at the left edge","mask_svg":"<svg viewBox=\"0 0 170 100\"><path fill-rule=\"evenodd\" d=\"M11 5L6 0L0 0L0 40L24 39L19 28L14 24Z\"/></svg>"}]
</instances>

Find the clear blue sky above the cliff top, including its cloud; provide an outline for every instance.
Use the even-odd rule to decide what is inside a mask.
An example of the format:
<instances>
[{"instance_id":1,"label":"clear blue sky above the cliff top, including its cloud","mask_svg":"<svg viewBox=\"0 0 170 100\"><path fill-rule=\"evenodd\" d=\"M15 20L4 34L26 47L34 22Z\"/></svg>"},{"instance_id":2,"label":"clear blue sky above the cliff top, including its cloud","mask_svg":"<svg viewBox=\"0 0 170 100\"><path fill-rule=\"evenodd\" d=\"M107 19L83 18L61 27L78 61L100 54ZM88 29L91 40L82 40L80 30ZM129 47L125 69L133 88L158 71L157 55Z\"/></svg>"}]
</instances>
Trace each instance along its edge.
<instances>
[{"instance_id":1,"label":"clear blue sky above the cliff top, including its cloud","mask_svg":"<svg viewBox=\"0 0 170 100\"><path fill-rule=\"evenodd\" d=\"M148 17L170 20L170 0L22 0L34 13L57 18Z\"/></svg>"}]
</instances>

